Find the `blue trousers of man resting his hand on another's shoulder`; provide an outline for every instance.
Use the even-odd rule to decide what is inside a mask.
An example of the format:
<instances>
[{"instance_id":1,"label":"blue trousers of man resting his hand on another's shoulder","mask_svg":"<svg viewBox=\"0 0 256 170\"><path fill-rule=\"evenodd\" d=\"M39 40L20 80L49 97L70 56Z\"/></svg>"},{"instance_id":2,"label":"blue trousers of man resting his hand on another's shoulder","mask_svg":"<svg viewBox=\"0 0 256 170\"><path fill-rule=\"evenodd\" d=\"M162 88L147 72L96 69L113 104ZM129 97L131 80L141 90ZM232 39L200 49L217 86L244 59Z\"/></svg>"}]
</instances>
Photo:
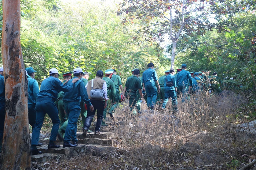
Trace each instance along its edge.
<instances>
[{"instance_id":1,"label":"blue trousers of man resting his hand on another's shoulder","mask_svg":"<svg viewBox=\"0 0 256 170\"><path fill-rule=\"evenodd\" d=\"M44 122L45 114L48 114L52 120L52 130L50 140L55 141L59 130L59 115L56 104L51 99L36 102L36 124L32 131L31 144L37 145L40 131Z\"/></svg>"}]
</instances>

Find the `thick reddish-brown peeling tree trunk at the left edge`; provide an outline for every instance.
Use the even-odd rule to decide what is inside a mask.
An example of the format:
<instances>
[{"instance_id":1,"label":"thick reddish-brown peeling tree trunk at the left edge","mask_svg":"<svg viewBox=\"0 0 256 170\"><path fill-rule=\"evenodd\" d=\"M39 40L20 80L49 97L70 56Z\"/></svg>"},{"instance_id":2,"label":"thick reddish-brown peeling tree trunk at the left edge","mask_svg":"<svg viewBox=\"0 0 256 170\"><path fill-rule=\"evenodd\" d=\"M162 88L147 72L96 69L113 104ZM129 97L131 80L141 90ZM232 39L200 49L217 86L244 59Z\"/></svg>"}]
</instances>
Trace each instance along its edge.
<instances>
[{"instance_id":1,"label":"thick reddish-brown peeling tree trunk at the left edge","mask_svg":"<svg viewBox=\"0 0 256 170\"><path fill-rule=\"evenodd\" d=\"M6 117L1 170L30 170L28 123L28 79L21 53L20 0L3 0L2 57L4 66Z\"/></svg>"}]
</instances>

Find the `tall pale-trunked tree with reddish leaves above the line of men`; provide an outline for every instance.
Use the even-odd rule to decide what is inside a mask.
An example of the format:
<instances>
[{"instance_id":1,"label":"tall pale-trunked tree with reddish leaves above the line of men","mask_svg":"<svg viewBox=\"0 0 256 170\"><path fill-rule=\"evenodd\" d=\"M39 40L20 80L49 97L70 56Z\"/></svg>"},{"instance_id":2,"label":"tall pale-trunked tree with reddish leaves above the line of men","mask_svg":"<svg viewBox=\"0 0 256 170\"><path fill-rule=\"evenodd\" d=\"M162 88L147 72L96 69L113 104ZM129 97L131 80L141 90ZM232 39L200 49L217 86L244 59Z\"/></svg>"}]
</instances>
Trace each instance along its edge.
<instances>
[{"instance_id":1,"label":"tall pale-trunked tree with reddish leaves above the line of men","mask_svg":"<svg viewBox=\"0 0 256 170\"><path fill-rule=\"evenodd\" d=\"M176 45L181 35L192 32L204 34L209 23L209 11L213 1L208 0L124 0L117 15L128 14L124 22L142 19L142 30L149 39L163 41L166 35L172 41L171 68L174 68Z\"/></svg>"}]
</instances>

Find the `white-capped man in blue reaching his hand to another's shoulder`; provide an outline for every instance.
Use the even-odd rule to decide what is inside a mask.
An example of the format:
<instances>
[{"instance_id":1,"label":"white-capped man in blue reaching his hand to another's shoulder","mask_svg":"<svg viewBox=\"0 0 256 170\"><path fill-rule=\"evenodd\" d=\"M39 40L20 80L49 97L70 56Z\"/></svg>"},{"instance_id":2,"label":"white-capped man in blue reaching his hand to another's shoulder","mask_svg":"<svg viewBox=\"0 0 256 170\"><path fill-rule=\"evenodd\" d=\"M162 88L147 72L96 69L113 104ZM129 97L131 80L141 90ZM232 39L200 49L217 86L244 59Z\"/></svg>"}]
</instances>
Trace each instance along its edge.
<instances>
[{"instance_id":1,"label":"white-capped man in blue reaching his hand to another's shoulder","mask_svg":"<svg viewBox=\"0 0 256 170\"><path fill-rule=\"evenodd\" d=\"M50 142L48 144L48 149L50 148L59 148L59 145L56 145L54 141L58 134L59 129L59 115L58 109L55 105L55 101L58 96L58 92L64 91L67 92L71 90L74 86L74 83L79 79L73 79L69 85L65 86L62 84L61 80L58 79L59 73L56 68L52 68L49 71L50 77L43 80L41 83L41 88L36 98L36 124L32 132L31 139L31 153L42 154L41 151L38 151L36 146L39 141L40 130L44 122L44 116L47 113L52 120L52 130L50 136Z\"/></svg>"}]
</instances>

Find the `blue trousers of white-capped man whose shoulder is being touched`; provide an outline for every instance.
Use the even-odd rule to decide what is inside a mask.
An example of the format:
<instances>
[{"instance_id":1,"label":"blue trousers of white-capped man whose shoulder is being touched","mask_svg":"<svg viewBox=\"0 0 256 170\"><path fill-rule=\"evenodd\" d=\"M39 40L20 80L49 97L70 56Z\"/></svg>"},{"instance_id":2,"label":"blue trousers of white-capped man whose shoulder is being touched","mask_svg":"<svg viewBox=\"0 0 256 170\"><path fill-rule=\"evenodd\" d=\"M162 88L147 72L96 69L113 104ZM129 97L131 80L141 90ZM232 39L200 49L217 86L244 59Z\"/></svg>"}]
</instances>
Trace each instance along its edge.
<instances>
[{"instance_id":1,"label":"blue trousers of white-capped man whose shoulder is being touched","mask_svg":"<svg viewBox=\"0 0 256 170\"><path fill-rule=\"evenodd\" d=\"M80 102L65 102L64 107L67 115L69 115L64 141L67 143L69 143L71 139L72 141L77 141L77 121L81 112Z\"/></svg>"}]
</instances>

